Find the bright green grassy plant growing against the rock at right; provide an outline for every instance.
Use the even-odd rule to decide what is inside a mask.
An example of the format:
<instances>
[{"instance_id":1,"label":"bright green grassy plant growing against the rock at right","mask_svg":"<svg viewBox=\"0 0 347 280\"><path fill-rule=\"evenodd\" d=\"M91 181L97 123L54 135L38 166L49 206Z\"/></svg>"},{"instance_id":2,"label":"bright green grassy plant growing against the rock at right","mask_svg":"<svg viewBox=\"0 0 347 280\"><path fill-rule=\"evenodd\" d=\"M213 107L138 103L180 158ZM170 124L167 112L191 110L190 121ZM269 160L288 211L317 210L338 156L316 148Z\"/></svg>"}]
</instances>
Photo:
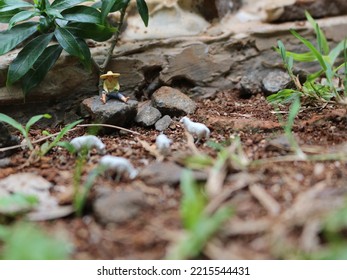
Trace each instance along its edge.
<instances>
[{"instance_id":1,"label":"bright green grassy plant growing against the rock at right","mask_svg":"<svg viewBox=\"0 0 347 280\"><path fill-rule=\"evenodd\" d=\"M270 95L268 101L271 103L289 103L300 97L314 99L323 103L336 102L346 105L344 90L341 86L341 84L346 83L346 76L341 77L338 72L343 67L346 69L346 39L341 41L333 49L330 49L322 29L308 12L305 12L305 14L307 20L314 28L316 46L309 40L303 38L295 30L290 30L290 32L308 49L307 52L294 53L287 51L282 41L278 41L276 51L281 55L284 67L296 88L283 89L276 94ZM335 65L341 52L345 54L345 62ZM308 75L306 81L301 84L298 77L293 73L294 61L316 62L321 69ZM341 83L342 80L343 83Z\"/></svg>"}]
</instances>

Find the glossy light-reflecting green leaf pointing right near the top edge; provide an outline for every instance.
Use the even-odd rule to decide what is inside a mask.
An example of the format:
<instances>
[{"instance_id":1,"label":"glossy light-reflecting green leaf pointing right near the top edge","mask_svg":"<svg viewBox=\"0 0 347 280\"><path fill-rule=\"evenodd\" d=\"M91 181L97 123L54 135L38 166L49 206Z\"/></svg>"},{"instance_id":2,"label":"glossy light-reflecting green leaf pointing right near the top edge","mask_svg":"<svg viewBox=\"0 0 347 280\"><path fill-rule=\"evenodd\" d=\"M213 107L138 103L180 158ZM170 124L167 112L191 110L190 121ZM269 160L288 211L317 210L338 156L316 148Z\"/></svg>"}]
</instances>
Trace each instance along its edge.
<instances>
[{"instance_id":1,"label":"glossy light-reflecting green leaf pointing right near the top edge","mask_svg":"<svg viewBox=\"0 0 347 280\"><path fill-rule=\"evenodd\" d=\"M101 23L101 13L92 7L76 6L64 10L61 14L70 21Z\"/></svg>"}]
</instances>

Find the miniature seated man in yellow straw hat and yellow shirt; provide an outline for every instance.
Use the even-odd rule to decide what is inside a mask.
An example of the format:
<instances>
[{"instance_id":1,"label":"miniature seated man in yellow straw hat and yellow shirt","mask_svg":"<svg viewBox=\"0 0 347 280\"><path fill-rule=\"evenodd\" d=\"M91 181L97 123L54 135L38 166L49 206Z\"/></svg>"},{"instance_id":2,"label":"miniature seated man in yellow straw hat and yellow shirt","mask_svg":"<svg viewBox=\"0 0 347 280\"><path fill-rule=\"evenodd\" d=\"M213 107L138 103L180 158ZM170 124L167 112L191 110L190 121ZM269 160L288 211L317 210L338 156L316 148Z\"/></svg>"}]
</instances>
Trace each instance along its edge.
<instances>
[{"instance_id":1,"label":"miniature seated man in yellow straw hat and yellow shirt","mask_svg":"<svg viewBox=\"0 0 347 280\"><path fill-rule=\"evenodd\" d=\"M112 71L108 71L106 74L100 76L100 79L103 81L103 91L101 93L100 100L102 103L106 104L106 102L111 99L118 99L127 103L129 97L125 97L123 94L119 92L120 85L118 81L119 73L113 73Z\"/></svg>"}]
</instances>

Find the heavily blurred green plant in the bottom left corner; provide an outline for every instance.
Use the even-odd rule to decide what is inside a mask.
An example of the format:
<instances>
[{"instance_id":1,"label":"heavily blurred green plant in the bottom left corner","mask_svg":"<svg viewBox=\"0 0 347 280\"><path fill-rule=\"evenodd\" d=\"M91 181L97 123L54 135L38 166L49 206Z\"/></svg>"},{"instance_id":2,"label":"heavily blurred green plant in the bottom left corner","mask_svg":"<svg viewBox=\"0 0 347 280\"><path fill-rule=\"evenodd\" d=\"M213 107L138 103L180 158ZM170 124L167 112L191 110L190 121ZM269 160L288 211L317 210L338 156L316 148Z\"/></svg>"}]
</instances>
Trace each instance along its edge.
<instances>
[{"instance_id":1,"label":"heavily blurred green plant in the bottom left corner","mask_svg":"<svg viewBox=\"0 0 347 280\"><path fill-rule=\"evenodd\" d=\"M1 244L2 243L2 244ZM29 223L0 225L0 259L4 260L63 260L68 259L71 245L57 240Z\"/></svg>"}]
</instances>

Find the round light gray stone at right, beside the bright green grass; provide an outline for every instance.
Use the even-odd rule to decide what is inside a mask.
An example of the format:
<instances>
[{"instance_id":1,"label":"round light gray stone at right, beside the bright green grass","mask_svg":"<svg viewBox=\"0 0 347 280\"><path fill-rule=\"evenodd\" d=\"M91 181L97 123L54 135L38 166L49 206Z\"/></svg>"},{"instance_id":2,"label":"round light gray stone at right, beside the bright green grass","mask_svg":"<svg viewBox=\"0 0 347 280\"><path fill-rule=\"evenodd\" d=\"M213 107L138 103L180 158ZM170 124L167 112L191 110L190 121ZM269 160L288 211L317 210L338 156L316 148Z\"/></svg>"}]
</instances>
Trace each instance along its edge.
<instances>
[{"instance_id":1,"label":"round light gray stone at right, beside the bright green grass","mask_svg":"<svg viewBox=\"0 0 347 280\"><path fill-rule=\"evenodd\" d=\"M276 70L271 71L263 79L263 89L268 94L277 93L282 89L285 89L291 83L291 78L288 73Z\"/></svg>"}]
</instances>

